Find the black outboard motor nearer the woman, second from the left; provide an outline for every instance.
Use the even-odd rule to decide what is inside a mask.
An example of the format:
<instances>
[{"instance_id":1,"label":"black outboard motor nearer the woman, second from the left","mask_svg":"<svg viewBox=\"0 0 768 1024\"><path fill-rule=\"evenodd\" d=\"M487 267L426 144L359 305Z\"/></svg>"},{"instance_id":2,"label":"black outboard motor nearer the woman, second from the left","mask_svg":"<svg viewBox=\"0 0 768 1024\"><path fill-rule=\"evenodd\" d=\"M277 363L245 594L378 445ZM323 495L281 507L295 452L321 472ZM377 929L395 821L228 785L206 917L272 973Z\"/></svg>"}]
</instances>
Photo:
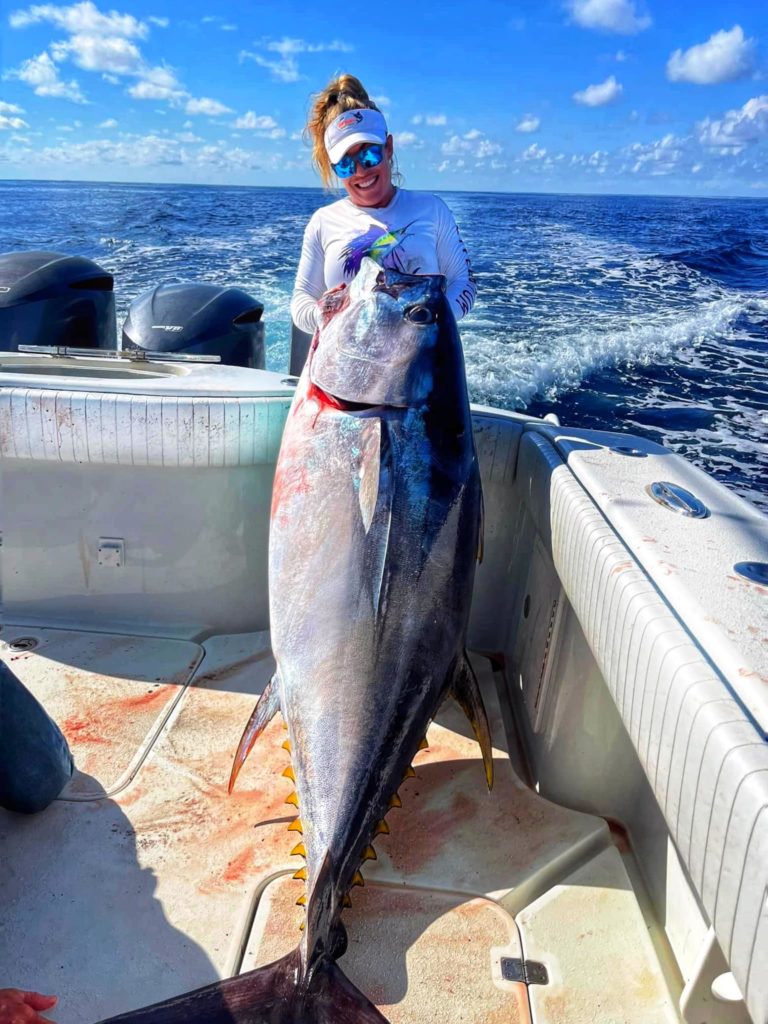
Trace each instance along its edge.
<instances>
[{"instance_id":1,"label":"black outboard motor nearer the woman, second from the left","mask_svg":"<svg viewBox=\"0 0 768 1024\"><path fill-rule=\"evenodd\" d=\"M263 370L264 307L239 288L158 285L131 303L123 348L219 355L230 367Z\"/></svg>"}]
</instances>

